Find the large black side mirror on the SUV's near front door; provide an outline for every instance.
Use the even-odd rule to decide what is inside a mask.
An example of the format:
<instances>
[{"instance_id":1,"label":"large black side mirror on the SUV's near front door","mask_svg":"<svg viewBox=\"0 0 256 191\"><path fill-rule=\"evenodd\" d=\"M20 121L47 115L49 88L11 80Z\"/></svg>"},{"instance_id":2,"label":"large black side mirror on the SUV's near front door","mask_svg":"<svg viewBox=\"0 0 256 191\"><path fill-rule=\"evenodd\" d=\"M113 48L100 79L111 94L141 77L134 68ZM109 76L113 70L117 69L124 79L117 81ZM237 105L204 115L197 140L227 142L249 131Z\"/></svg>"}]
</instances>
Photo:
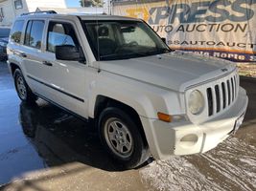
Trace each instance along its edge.
<instances>
[{"instance_id":1,"label":"large black side mirror on the SUV's near front door","mask_svg":"<svg viewBox=\"0 0 256 191\"><path fill-rule=\"evenodd\" d=\"M70 61L84 61L85 57L81 51L81 48L74 47L72 45L56 46L56 59L70 60Z\"/></svg>"}]
</instances>

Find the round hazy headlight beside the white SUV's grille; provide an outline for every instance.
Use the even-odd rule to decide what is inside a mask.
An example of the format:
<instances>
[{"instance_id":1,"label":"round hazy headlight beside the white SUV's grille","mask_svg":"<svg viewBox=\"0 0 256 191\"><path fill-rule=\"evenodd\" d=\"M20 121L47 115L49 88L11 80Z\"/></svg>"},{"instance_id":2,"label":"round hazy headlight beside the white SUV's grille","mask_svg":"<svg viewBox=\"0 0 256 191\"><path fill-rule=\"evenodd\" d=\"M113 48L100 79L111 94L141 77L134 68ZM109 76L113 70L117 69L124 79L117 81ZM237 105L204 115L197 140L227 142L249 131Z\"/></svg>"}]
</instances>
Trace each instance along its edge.
<instances>
[{"instance_id":1,"label":"round hazy headlight beside the white SUV's grille","mask_svg":"<svg viewBox=\"0 0 256 191\"><path fill-rule=\"evenodd\" d=\"M204 107L204 98L202 94L195 90L189 96L189 111L193 115L198 115L202 112Z\"/></svg>"}]
</instances>

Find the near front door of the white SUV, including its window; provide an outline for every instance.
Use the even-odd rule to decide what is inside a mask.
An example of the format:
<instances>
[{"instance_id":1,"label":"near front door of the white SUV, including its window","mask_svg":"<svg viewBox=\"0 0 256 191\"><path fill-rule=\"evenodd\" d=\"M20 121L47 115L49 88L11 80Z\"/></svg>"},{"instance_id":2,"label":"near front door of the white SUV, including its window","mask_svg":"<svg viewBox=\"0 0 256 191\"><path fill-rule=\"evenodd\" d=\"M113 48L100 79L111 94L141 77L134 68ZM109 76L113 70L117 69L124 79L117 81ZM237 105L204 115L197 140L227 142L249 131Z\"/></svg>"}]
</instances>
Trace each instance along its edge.
<instances>
[{"instance_id":1,"label":"near front door of the white SUV, including its window","mask_svg":"<svg viewBox=\"0 0 256 191\"><path fill-rule=\"evenodd\" d=\"M66 21L49 21L46 32L42 72L47 95L41 94L58 105L87 117L86 64L56 59L55 48L58 45L81 47L76 26Z\"/></svg>"}]
</instances>

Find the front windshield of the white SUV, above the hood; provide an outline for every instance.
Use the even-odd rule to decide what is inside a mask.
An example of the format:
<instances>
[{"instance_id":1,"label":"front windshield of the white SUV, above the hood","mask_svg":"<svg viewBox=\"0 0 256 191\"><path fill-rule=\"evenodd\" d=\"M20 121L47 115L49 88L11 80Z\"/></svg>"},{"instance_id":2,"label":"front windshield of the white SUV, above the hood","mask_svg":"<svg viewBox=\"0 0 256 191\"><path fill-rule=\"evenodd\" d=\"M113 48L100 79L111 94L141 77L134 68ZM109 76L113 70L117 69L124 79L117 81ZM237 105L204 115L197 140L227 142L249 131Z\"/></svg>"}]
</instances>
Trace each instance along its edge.
<instances>
[{"instance_id":1,"label":"front windshield of the white SUV, above the hood","mask_svg":"<svg viewBox=\"0 0 256 191\"><path fill-rule=\"evenodd\" d=\"M168 53L162 39L141 21L83 21L97 60L117 60Z\"/></svg>"}]
</instances>

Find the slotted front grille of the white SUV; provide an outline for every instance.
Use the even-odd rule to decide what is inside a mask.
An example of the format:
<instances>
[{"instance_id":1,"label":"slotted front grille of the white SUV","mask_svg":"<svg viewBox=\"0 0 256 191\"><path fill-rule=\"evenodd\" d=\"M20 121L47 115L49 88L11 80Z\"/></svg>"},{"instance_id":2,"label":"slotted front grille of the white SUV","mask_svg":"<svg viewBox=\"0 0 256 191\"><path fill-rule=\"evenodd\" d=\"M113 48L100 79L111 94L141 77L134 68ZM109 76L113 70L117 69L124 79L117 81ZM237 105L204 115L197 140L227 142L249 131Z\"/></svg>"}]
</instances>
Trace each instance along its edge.
<instances>
[{"instance_id":1,"label":"slotted front grille of the white SUV","mask_svg":"<svg viewBox=\"0 0 256 191\"><path fill-rule=\"evenodd\" d=\"M206 88L208 116L214 116L232 105L238 95L239 77L232 74L221 82Z\"/></svg>"}]
</instances>

